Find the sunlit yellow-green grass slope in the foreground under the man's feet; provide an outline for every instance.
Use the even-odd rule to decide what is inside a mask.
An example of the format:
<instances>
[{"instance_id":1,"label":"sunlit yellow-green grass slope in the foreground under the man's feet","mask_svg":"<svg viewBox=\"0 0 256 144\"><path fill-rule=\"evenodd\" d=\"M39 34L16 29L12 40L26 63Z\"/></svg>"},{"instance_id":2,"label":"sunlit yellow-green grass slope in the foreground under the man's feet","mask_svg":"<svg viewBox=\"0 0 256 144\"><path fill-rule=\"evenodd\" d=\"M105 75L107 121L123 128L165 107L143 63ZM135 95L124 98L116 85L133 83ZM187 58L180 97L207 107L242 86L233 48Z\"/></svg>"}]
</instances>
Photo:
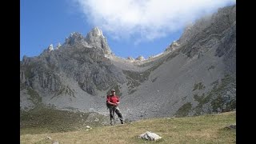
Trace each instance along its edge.
<instances>
[{"instance_id":1,"label":"sunlit yellow-green grass slope in the foreground under the man's feet","mask_svg":"<svg viewBox=\"0 0 256 144\"><path fill-rule=\"evenodd\" d=\"M236 123L235 111L184 118L152 118L124 125L98 126L90 130L62 133L21 134L21 143L236 143L236 130L226 126ZM146 131L162 137L156 142L138 138ZM50 137L51 139L47 139Z\"/></svg>"}]
</instances>

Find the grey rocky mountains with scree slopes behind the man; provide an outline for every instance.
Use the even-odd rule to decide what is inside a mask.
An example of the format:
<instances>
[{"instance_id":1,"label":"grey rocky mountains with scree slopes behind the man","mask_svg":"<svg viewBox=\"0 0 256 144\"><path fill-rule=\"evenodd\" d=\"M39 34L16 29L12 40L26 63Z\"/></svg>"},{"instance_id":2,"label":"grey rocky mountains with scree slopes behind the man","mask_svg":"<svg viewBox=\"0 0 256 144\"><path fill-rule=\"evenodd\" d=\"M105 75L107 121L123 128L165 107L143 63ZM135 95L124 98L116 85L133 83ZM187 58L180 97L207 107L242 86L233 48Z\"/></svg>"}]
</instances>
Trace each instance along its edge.
<instances>
[{"instance_id":1,"label":"grey rocky mountains with scree slopes behind the man","mask_svg":"<svg viewBox=\"0 0 256 144\"><path fill-rule=\"evenodd\" d=\"M107 114L114 88L125 118L186 116L236 106L236 6L186 27L156 57L121 59L102 30L70 34L55 49L20 62L21 109L39 104Z\"/></svg>"}]
</instances>

